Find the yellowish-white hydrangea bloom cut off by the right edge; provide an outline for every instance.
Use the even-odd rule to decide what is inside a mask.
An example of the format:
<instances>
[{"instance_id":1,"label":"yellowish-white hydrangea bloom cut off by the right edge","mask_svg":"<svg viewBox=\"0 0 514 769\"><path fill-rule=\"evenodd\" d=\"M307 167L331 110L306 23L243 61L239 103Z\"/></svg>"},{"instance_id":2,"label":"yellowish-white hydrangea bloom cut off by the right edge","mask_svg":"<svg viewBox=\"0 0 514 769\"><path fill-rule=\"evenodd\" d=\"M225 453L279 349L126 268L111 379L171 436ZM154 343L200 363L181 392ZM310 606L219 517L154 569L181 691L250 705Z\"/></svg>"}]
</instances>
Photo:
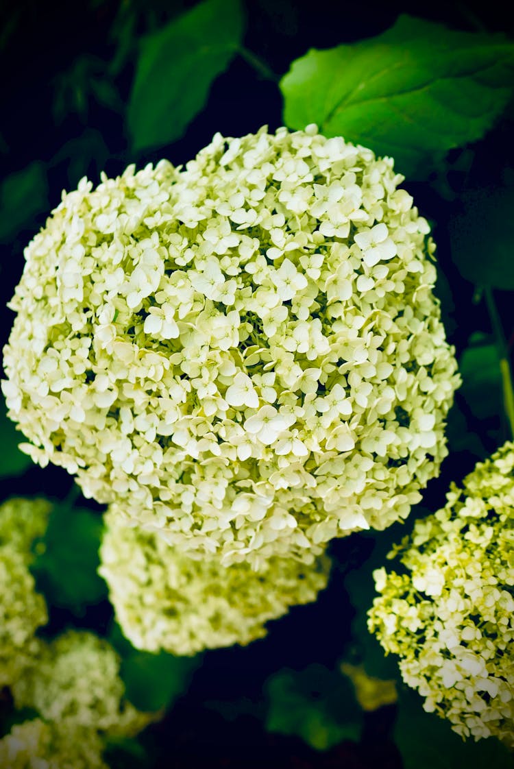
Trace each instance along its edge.
<instances>
[{"instance_id":1,"label":"yellowish-white hydrangea bloom cut off by the right edge","mask_svg":"<svg viewBox=\"0 0 514 769\"><path fill-rule=\"evenodd\" d=\"M369 629L399 654L426 711L475 739L514 747L514 444L452 485L442 510L416 521L406 574L374 572Z\"/></svg>"}]
</instances>

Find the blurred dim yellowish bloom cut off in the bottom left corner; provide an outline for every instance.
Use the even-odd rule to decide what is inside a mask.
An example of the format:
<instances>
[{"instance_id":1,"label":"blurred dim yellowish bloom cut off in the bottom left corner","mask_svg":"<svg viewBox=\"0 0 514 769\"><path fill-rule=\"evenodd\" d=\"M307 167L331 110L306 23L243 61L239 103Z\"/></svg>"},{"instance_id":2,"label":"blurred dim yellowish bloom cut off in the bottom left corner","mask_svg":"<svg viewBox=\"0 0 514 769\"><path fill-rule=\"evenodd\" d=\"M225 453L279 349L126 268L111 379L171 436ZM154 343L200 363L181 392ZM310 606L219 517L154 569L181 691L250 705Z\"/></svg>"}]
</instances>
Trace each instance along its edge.
<instances>
[{"instance_id":1,"label":"blurred dim yellowish bloom cut off in the bottom left corner","mask_svg":"<svg viewBox=\"0 0 514 769\"><path fill-rule=\"evenodd\" d=\"M12 727L0 740L0 766L5 769L108 769L102 741L91 729L63 721L47 724L36 718Z\"/></svg>"}]
</instances>

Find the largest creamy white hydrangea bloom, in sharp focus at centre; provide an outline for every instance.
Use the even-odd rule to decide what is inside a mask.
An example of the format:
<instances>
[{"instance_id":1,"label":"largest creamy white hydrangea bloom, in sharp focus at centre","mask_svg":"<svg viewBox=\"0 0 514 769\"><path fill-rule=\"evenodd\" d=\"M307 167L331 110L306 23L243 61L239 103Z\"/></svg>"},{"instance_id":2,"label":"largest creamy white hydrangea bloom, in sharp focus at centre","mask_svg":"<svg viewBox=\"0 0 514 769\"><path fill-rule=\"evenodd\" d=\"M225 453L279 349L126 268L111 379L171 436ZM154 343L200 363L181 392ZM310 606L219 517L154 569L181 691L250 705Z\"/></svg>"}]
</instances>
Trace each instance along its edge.
<instances>
[{"instance_id":1,"label":"largest creamy white hydrangea bloom, in sharp focus at centre","mask_svg":"<svg viewBox=\"0 0 514 769\"><path fill-rule=\"evenodd\" d=\"M459 378L401 181L314 126L82 180L10 305L24 450L225 565L406 518Z\"/></svg>"}]
</instances>

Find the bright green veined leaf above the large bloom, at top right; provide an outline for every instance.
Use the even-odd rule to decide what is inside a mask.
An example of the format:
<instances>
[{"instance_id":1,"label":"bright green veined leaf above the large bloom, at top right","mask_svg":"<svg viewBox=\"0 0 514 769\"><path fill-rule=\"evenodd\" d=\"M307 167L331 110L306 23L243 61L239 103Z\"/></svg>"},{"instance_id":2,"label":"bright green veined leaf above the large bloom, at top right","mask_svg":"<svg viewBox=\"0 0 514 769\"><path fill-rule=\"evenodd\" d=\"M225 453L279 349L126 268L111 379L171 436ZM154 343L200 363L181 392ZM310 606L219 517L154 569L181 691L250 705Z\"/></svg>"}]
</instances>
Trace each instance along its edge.
<instances>
[{"instance_id":1,"label":"bright green veined leaf above the large bloom, at top right","mask_svg":"<svg viewBox=\"0 0 514 769\"><path fill-rule=\"evenodd\" d=\"M317 123L426 178L447 151L491 127L512 94L513 66L514 45L502 35L402 15L375 38L292 62L280 84L284 120Z\"/></svg>"}]
</instances>

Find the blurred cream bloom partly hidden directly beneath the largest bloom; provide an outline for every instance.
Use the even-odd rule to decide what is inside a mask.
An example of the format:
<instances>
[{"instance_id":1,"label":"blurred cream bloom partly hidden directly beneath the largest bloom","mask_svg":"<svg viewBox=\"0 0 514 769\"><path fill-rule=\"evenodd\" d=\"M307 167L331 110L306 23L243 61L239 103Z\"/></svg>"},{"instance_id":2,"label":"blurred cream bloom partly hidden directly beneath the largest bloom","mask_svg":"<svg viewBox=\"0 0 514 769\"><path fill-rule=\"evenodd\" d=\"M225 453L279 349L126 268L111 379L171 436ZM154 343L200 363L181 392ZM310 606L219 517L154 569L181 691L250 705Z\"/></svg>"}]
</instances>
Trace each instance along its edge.
<instances>
[{"instance_id":1,"label":"blurred cream bloom partly hidden directly beneath the largest bloom","mask_svg":"<svg viewBox=\"0 0 514 769\"><path fill-rule=\"evenodd\" d=\"M309 567L292 558L271 558L264 571L224 567L219 558L189 558L113 514L107 524L99 572L123 633L145 651L188 655L249 644L265 635L267 621L315 601L329 577L326 557Z\"/></svg>"}]
</instances>

